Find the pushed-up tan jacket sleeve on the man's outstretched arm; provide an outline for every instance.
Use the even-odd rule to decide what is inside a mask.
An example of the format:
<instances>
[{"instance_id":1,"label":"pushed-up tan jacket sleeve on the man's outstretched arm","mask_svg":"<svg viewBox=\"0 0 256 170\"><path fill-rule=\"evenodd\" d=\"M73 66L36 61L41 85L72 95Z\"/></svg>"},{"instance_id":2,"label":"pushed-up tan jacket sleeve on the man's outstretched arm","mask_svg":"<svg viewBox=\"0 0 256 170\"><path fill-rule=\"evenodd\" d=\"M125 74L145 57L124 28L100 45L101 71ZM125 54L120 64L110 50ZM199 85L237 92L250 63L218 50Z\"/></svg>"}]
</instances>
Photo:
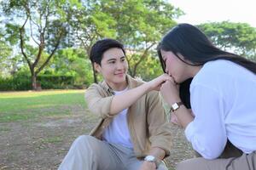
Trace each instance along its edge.
<instances>
[{"instance_id":1,"label":"pushed-up tan jacket sleeve on the man's outstretched arm","mask_svg":"<svg viewBox=\"0 0 256 170\"><path fill-rule=\"evenodd\" d=\"M102 118L112 117L109 113L113 95L107 96L107 92L104 92L99 85L95 83L90 85L85 91L84 98L89 110L93 114L101 116Z\"/></svg>"}]
</instances>

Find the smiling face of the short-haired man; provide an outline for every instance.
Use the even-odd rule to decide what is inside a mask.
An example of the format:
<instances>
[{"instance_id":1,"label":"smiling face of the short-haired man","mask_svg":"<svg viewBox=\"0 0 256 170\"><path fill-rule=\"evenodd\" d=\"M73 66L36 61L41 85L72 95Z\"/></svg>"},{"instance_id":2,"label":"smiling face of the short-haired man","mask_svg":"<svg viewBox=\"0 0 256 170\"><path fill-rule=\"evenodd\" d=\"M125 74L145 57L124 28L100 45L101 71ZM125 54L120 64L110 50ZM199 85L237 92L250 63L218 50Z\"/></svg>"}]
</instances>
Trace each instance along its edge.
<instances>
[{"instance_id":1,"label":"smiling face of the short-haired man","mask_svg":"<svg viewBox=\"0 0 256 170\"><path fill-rule=\"evenodd\" d=\"M102 55L101 65L95 63L96 71L102 74L104 80L113 90L122 90L127 86L127 61L120 48L110 48Z\"/></svg>"}]
</instances>

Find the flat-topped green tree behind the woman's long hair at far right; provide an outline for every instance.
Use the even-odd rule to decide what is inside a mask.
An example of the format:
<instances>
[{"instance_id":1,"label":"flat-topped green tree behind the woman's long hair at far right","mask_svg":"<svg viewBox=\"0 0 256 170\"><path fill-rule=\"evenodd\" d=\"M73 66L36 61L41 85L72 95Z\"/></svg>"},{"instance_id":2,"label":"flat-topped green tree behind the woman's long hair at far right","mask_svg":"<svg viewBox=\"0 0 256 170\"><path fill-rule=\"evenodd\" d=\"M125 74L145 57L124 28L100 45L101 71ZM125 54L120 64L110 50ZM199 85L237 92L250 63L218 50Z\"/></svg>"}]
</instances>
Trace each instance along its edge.
<instances>
[{"instance_id":1,"label":"flat-topped green tree behind the woman's long hair at far right","mask_svg":"<svg viewBox=\"0 0 256 170\"><path fill-rule=\"evenodd\" d=\"M256 61L256 28L229 21L206 23L199 27L219 48Z\"/></svg>"}]
</instances>

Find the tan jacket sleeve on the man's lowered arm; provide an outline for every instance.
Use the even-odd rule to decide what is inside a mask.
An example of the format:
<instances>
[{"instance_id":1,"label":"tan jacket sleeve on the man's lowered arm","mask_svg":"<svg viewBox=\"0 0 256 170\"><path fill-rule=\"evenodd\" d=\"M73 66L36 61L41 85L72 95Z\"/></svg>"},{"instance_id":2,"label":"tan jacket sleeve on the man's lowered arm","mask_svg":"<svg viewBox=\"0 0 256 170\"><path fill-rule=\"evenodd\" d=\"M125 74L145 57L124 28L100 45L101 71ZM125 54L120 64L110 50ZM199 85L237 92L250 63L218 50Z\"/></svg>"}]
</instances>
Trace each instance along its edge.
<instances>
[{"instance_id":1,"label":"tan jacket sleeve on the man's lowered arm","mask_svg":"<svg viewBox=\"0 0 256 170\"><path fill-rule=\"evenodd\" d=\"M170 156L172 145L171 125L167 120L160 93L148 93L148 133L151 147L159 147Z\"/></svg>"}]
</instances>

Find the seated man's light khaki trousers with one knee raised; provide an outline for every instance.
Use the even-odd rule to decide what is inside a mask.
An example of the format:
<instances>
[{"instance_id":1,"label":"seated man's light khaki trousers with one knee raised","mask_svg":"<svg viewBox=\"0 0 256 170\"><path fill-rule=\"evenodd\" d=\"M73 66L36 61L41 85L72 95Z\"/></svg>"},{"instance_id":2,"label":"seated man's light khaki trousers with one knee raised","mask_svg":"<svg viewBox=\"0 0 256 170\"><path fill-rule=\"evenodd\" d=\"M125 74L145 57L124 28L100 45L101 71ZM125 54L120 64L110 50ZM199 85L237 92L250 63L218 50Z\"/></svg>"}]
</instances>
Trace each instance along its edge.
<instances>
[{"instance_id":1,"label":"seated man's light khaki trousers with one knee raised","mask_svg":"<svg viewBox=\"0 0 256 170\"><path fill-rule=\"evenodd\" d=\"M132 149L82 135L73 142L59 170L137 170L142 163ZM161 163L158 170L167 167Z\"/></svg>"}]
</instances>

